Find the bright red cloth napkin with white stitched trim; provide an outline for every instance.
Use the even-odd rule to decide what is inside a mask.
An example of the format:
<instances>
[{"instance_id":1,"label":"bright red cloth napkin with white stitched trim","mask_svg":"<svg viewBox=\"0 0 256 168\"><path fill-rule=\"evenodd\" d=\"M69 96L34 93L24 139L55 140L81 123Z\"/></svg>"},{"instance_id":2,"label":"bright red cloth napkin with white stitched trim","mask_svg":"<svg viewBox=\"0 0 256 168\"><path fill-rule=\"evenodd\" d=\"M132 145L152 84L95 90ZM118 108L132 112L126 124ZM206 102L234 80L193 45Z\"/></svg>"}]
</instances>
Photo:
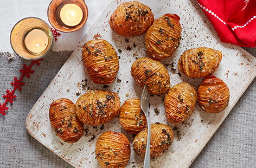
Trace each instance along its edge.
<instances>
[{"instance_id":1,"label":"bright red cloth napkin with white stitched trim","mask_svg":"<svg viewBox=\"0 0 256 168\"><path fill-rule=\"evenodd\" d=\"M197 0L225 43L256 47L256 0Z\"/></svg>"}]
</instances>

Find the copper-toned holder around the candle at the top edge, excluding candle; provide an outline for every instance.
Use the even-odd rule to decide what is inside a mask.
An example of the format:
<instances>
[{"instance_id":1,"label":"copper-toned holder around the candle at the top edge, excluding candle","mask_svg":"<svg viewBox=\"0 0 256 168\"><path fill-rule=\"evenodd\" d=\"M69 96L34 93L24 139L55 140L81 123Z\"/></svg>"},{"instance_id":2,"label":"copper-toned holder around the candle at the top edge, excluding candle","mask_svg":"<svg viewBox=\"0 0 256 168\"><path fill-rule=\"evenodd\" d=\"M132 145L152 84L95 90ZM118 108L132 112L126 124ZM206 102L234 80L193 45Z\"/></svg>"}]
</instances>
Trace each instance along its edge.
<instances>
[{"instance_id":1,"label":"copper-toned holder around the candle at the top edge, excluding candle","mask_svg":"<svg viewBox=\"0 0 256 168\"><path fill-rule=\"evenodd\" d=\"M78 25L75 25L73 27L64 24L60 19L61 8L64 5L69 4L69 3L78 5L82 9L82 14L83 14L82 21ZM50 24L56 30L59 30L63 33L71 33L74 31L78 31L85 25L87 18L88 18L88 8L87 8L87 5L84 0L70 0L70 1L52 0L52 2L50 2L50 4L49 4L48 10L47 10L47 15L48 15L48 20L49 20Z\"/></svg>"}]
</instances>

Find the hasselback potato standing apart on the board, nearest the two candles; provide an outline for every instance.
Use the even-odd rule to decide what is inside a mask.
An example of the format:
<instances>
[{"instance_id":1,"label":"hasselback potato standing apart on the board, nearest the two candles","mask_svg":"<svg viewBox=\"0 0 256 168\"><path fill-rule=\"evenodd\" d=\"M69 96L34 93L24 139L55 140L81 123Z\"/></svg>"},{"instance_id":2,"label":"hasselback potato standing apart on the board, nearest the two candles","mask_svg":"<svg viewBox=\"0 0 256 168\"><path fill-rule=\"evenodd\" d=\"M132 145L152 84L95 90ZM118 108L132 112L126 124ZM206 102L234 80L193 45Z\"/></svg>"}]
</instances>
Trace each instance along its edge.
<instances>
[{"instance_id":1,"label":"hasselback potato standing apart on the board, nearest the two candles","mask_svg":"<svg viewBox=\"0 0 256 168\"><path fill-rule=\"evenodd\" d=\"M116 50L106 40L91 40L82 47L82 61L94 83L107 84L116 79L119 61Z\"/></svg>"}]
</instances>

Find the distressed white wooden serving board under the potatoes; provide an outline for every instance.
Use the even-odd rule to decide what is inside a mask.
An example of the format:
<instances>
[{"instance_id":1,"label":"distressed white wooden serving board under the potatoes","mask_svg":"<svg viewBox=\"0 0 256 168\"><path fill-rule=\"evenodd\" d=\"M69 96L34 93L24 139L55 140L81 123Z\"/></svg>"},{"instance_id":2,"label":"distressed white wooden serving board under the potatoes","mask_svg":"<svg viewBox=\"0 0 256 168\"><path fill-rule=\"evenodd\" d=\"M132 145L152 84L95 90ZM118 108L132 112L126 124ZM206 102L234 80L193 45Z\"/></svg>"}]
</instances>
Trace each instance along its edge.
<instances>
[{"instance_id":1,"label":"distressed white wooden serving board under the potatoes","mask_svg":"<svg viewBox=\"0 0 256 168\"><path fill-rule=\"evenodd\" d=\"M183 29L181 45L170 59L162 61L164 64L175 62L174 68L177 69L177 60L183 51L194 47L204 46L214 48L220 50L224 55L214 75L225 81L231 91L231 99L225 111L219 114L209 114L203 112L197 106L195 112L187 121L183 124L172 125L165 118L162 101L164 95L154 95L150 97L151 120L153 122L159 121L168 124L175 130L175 139L171 147L162 156L153 159L151 167L189 167L256 76L256 59L238 46L220 42L212 25L194 0L140 0L140 2L149 5L155 18L165 13L174 13L181 17ZM123 128L121 128L118 118L116 118L110 123L105 124L103 130L100 129L100 126L97 128L85 126L85 128L89 130L88 133L77 143L67 144L55 135L50 126L48 116L49 105L52 101L59 98L68 98L75 102L78 99L76 93L86 93L87 87L82 88L78 86L79 82L81 83L82 80L88 80L87 83L90 89L104 89L103 85L97 85L89 80L81 61L81 46L86 41L92 40L92 38L95 37L103 38L110 42L116 50L121 49L123 51L119 54L120 70L117 75L118 79L121 79L121 82L118 82L116 79L105 89L118 92L121 104L128 98L139 98L142 93L142 88L138 87L133 81L130 69L136 57L146 56L144 35L130 37L127 43L125 42L125 37L120 37L113 33L108 20L120 3L123 3L123 1L111 1L99 20L95 22L91 30L89 30L87 35L80 42L80 46L75 49L71 57L69 57L67 62L60 69L60 72L57 73L53 81L47 87L46 91L43 92L27 117L26 126L28 132L36 140L49 148L49 150L52 150L74 167L99 167L98 161L95 159L95 143L99 135L105 131L112 130L123 132L129 138L130 143L132 143L132 135L126 133ZM136 44L136 48L133 47L133 43ZM126 50L127 47L131 47L132 49ZM134 54L136 52L137 54ZM170 73L172 86L185 81L197 87L201 82L201 79L191 79L183 74L180 77L177 74L178 70L176 73L171 72L170 66L168 66L167 69ZM160 109L158 115L154 112L156 107ZM93 135L95 135L96 138L91 140ZM134 165L136 167L142 167L142 163L142 158L136 156L132 150L131 159L127 167L134 167Z\"/></svg>"}]
</instances>

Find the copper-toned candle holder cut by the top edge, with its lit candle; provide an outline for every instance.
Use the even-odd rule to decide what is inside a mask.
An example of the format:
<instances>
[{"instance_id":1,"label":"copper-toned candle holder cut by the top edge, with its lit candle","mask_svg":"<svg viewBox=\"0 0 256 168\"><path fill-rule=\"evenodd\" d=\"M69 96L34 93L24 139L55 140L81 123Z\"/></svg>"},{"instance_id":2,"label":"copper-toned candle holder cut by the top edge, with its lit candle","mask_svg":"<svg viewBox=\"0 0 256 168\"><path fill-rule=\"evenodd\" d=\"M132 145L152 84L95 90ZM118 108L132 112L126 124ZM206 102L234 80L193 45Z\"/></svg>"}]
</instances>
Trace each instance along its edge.
<instances>
[{"instance_id":1,"label":"copper-toned candle holder cut by the top edge, with its lit candle","mask_svg":"<svg viewBox=\"0 0 256 168\"><path fill-rule=\"evenodd\" d=\"M84 26L88 18L88 8L84 0L52 0L47 15L55 29L69 33Z\"/></svg>"}]
</instances>

